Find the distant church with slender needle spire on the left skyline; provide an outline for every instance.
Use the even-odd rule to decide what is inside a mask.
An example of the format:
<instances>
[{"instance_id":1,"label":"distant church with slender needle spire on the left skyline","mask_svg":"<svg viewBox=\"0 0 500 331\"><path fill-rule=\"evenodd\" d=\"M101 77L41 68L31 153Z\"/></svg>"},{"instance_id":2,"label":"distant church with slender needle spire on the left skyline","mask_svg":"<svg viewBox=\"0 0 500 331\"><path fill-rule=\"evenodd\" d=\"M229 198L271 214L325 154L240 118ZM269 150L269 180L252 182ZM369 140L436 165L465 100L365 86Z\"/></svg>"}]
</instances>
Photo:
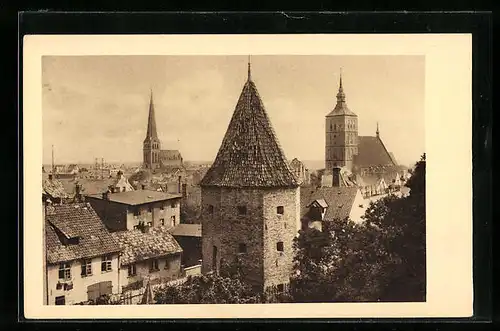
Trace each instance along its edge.
<instances>
[{"instance_id":1,"label":"distant church with slender needle spire on the left skyline","mask_svg":"<svg viewBox=\"0 0 500 331\"><path fill-rule=\"evenodd\" d=\"M162 150L161 142L156 131L155 109L153 92L149 100L149 116L146 138L143 142L143 167L145 169L167 169L183 167L181 153L178 150Z\"/></svg>"}]
</instances>

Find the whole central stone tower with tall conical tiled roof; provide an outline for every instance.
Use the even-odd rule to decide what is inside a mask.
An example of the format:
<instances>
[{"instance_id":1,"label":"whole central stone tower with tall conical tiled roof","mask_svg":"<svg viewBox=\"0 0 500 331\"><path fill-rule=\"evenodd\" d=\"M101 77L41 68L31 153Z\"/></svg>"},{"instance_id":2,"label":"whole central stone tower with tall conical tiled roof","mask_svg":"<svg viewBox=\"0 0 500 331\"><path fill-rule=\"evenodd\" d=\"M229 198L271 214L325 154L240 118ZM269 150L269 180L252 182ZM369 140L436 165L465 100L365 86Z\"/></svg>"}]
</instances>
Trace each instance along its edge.
<instances>
[{"instance_id":1,"label":"whole central stone tower with tall conical tiled roof","mask_svg":"<svg viewBox=\"0 0 500 331\"><path fill-rule=\"evenodd\" d=\"M202 271L239 261L255 290L284 288L300 229L300 191L250 74L200 182Z\"/></svg>"}]
</instances>

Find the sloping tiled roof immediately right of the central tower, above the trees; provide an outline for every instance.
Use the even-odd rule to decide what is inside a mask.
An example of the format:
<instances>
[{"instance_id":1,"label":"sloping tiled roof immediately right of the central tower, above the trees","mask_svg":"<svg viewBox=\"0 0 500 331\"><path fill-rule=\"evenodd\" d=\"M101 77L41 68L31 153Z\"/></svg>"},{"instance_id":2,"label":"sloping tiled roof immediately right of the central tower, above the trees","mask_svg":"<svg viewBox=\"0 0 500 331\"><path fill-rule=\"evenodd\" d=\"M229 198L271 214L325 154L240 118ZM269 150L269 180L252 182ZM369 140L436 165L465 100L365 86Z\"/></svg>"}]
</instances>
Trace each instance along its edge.
<instances>
[{"instance_id":1,"label":"sloping tiled roof immediately right of the central tower, above the trees","mask_svg":"<svg viewBox=\"0 0 500 331\"><path fill-rule=\"evenodd\" d=\"M310 209L308 208L308 206L314 200L321 199L324 199L328 204L328 208L326 209L325 213L326 221L333 221L335 219L344 219L346 217L349 217L357 193L357 187L321 187L317 189L309 187L301 188L301 218L308 219L310 216Z\"/></svg>"}]
</instances>

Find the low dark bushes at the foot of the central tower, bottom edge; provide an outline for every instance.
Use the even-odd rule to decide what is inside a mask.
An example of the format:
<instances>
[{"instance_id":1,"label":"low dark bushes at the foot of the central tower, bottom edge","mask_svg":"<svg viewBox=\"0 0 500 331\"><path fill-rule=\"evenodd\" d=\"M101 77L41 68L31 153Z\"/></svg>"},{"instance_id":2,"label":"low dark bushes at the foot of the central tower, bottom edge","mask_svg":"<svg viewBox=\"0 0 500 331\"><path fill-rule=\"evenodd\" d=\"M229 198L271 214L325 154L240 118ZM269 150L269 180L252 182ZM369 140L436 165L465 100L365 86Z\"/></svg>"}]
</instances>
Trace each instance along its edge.
<instances>
[{"instance_id":1,"label":"low dark bushes at the foot of the central tower, bottom edge","mask_svg":"<svg viewBox=\"0 0 500 331\"><path fill-rule=\"evenodd\" d=\"M221 266L221 272L189 276L180 285L163 286L155 293L158 304L260 303L260 295L243 282L237 264Z\"/></svg>"}]
</instances>

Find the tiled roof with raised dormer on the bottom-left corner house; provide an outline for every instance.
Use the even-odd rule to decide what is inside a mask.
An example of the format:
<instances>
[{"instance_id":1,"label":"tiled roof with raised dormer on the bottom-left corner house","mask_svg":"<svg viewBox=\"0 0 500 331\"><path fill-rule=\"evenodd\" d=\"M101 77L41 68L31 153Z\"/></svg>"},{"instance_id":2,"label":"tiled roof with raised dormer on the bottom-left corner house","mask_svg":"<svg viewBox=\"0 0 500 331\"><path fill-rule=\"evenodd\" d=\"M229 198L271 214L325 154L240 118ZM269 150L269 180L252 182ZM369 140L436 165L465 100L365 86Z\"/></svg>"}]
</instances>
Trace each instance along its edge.
<instances>
[{"instance_id":1,"label":"tiled roof with raised dormer on the bottom-left corner house","mask_svg":"<svg viewBox=\"0 0 500 331\"><path fill-rule=\"evenodd\" d=\"M90 204L54 205L46 213L47 262L50 264L90 258L120 251ZM62 237L79 237L77 244L64 245ZM64 239L63 239L64 240Z\"/></svg>"}]
</instances>

